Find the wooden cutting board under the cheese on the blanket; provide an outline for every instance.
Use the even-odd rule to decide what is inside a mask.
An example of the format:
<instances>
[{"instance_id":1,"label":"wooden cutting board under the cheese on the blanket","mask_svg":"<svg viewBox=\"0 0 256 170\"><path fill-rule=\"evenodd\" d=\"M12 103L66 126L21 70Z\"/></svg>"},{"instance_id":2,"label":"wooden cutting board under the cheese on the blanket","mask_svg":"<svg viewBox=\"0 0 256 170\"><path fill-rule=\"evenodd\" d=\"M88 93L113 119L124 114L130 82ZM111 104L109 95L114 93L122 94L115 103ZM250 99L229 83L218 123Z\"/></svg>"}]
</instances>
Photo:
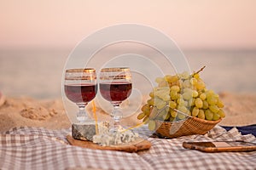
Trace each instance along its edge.
<instances>
[{"instance_id":1,"label":"wooden cutting board under the cheese on the blanket","mask_svg":"<svg viewBox=\"0 0 256 170\"><path fill-rule=\"evenodd\" d=\"M151 147L151 143L145 139L137 139L129 144L119 144L111 146L101 146L99 144L94 144L91 141L73 139L71 135L67 135L67 140L70 144L75 146L80 146L83 148L90 148L93 150L118 150L125 152L137 152L140 150L148 150Z\"/></svg>"}]
</instances>

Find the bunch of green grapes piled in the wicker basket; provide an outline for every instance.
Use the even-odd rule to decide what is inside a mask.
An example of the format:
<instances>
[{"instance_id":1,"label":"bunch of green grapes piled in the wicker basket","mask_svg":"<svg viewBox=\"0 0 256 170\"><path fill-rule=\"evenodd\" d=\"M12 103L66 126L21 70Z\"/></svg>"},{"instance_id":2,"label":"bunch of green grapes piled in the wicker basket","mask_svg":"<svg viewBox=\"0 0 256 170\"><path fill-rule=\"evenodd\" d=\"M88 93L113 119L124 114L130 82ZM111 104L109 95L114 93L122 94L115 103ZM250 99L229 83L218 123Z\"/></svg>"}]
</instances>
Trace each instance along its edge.
<instances>
[{"instance_id":1,"label":"bunch of green grapes piled in the wicker basket","mask_svg":"<svg viewBox=\"0 0 256 170\"><path fill-rule=\"evenodd\" d=\"M181 74L157 77L158 86L150 92L147 104L137 119L148 123L154 130L155 121L174 122L188 116L195 116L207 121L218 121L224 118L224 104L218 94L206 88L200 71L189 75L188 71Z\"/></svg>"}]
</instances>

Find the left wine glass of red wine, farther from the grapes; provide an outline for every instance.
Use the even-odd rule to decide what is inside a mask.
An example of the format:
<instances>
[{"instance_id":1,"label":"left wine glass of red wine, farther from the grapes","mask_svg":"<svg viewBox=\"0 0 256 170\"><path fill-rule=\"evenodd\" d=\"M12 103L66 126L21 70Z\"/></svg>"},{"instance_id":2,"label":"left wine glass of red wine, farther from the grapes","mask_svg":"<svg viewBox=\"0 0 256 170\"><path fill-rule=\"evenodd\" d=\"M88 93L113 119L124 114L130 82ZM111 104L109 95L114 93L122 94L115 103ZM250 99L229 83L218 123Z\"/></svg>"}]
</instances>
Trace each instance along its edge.
<instances>
[{"instance_id":1,"label":"left wine glass of red wine, farther from the grapes","mask_svg":"<svg viewBox=\"0 0 256 170\"><path fill-rule=\"evenodd\" d=\"M64 89L67 99L79 106L77 120L79 122L93 121L87 115L85 106L96 97L96 70L92 68L66 70Z\"/></svg>"}]
</instances>

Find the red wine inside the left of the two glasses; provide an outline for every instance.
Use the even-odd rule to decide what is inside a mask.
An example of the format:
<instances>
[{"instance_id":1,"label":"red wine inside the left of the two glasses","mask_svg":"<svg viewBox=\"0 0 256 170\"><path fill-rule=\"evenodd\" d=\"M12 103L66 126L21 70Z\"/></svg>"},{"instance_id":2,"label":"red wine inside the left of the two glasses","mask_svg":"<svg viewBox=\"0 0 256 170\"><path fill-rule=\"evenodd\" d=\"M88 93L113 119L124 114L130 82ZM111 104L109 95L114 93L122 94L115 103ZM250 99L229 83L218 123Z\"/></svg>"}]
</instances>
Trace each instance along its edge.
<instances>
[{"instance_id":1,"label":"red wine inside the left of the two glasses","mask_svg":"<svg viewBox=\"0 0 256 170\"><path fill-rule=\"evenodd\" d=\"M65 85L67 99L74 103L87 103L94 99L97 93L96 84L69 84Z\"/></svg>"}]
</instances>

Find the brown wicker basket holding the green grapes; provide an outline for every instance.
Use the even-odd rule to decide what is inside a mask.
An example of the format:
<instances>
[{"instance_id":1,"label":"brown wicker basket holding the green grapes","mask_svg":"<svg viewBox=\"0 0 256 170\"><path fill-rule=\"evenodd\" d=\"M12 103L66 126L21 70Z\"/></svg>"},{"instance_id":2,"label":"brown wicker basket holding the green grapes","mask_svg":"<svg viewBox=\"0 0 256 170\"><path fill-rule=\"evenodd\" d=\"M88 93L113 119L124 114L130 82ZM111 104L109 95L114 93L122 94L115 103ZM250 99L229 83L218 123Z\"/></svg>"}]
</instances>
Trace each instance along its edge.
<instances>
[{"instance_id":1,"label":"brown wicker basket holding the green grapes","mask_svg":"<svg viewBox=\"0 0 256 170\"><path fill-rule=\"evenodd\" d=\"M181 111L177 112L182 113ZM218 122L221 122L221 119L218 121L207 121L187 115L186 119L176 122L163 122L158 120L155 122L157 127L156 133L160 134L161 137L177 138L191 134L205 134L215 127Z\"/></svg>"}]
</instances>

